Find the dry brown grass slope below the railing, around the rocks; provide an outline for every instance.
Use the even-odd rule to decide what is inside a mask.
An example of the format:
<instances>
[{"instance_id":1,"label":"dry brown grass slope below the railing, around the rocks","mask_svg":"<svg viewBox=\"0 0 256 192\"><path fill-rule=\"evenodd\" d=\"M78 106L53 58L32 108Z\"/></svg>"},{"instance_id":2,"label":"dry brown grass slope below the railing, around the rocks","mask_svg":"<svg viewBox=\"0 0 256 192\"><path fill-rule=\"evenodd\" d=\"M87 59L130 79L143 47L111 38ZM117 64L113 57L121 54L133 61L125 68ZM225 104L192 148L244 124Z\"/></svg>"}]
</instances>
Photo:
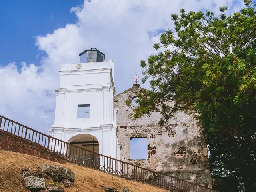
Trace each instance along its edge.
<instances>
[{"instance_id":1,"label":"dry brown grass slope below the railing, around the rocks","mask_svg":"<svg viewBox=\"0 0 256 192\"><path fill-rule=\"evenodd\" d=\"M22 186L22 168L30 167L35 170L43 164L64 166L75 173L75 184L71 188L66 188L66 192L104 192L100 185L116 189L125 186L132 192L168 191L71 163L59 164L34 156L0 150L0 192L25 192L26 189Z\"/></svg>"}]
</instances>

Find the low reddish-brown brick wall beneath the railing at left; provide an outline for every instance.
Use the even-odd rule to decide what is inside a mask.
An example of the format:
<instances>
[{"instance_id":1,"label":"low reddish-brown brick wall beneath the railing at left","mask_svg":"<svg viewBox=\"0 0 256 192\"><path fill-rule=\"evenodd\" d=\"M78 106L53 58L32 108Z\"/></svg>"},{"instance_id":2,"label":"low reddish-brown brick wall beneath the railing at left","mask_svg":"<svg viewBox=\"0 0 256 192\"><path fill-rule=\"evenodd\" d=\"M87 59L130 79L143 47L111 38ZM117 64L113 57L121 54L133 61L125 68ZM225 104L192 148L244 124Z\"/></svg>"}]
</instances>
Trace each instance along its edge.
<instances>
[{"instance_id":1,"label":"low reddish-brown brick wall beneath the railing at left","mask_svg":"<svg viewBox=\"0 0 256 192\"><path fill-rule=\"evenodd\" d=\"M23 153L59 163L66 162L66 158L63 156L56 154L35 142L3 130L0 130L0 150Z\"/></svg>"}]
</instances>

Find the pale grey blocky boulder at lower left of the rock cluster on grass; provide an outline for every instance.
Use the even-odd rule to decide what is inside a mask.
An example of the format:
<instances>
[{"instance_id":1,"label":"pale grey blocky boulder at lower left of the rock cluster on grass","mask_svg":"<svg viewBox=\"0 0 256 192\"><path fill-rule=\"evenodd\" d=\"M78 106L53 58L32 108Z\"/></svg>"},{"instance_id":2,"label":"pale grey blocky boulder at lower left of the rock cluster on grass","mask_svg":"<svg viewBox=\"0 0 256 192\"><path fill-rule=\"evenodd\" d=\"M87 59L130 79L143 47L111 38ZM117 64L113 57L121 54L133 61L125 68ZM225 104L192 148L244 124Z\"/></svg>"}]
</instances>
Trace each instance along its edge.
<instances>
[{"instance_id":1,"label":"pale grey blocky boulder at lower left of the rock cluster on grass","mask_svg":"<svg viewBox=\"0 0 256 192\"><path fill-rule=\"evenodd\" d=\"M31 191L39 191L45 189L44 178L28 176L24 178L24 184L25 187Z\"/></svg>"}]
</instances>

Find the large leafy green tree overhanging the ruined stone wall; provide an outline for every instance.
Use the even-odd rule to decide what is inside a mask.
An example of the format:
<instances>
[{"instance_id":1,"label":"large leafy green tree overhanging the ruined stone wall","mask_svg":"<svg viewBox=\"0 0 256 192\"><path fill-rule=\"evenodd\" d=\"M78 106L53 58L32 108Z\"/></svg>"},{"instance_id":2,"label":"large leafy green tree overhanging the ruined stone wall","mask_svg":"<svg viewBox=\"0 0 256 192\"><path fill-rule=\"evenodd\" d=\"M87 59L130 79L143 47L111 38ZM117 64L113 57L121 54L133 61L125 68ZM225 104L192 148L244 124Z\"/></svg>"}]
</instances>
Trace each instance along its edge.
<instances>
[{"instance_id":1,"label":"large leafy green tree overhanging the ruined stone wall","mask_svg":"<svg viewBox=\"0 0 256 192\"><path fill-rule=\"evenodd\" d=\"M215 176L239 180L241 190L256 191L256 4L244 0L240 12L220 7L172 14L152 54L141 61L142 83L133 118L161 109L166 122L182 110L197 112L210 150ZM173 102L170 106L167 103ZM235 185L235 183L234 183Z\"/></svg>"}]
</instances>

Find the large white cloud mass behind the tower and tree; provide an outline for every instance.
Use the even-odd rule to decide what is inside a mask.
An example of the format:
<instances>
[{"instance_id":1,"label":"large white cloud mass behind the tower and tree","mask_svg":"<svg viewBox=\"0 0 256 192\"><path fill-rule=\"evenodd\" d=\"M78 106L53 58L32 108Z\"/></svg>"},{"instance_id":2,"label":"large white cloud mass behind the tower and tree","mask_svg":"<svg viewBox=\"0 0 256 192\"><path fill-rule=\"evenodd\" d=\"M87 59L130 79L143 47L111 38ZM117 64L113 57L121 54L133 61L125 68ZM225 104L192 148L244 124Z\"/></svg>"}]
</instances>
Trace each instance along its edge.
<instances>
[{"instance_id":1,"label":"large white cloud mass behind the tower and tree","mask_svg":"<svg viewBox=\"0 0 256 192\"><path fill-rule=\"evenodd\" d=\"M54 123L55 93L62 63L79 61L78 54L96 47L115 60L115 86L120 93L134 83L135 72L142 76L140 60L155 50L159 30L172 28L170 15L186 10L231 6L232 0L92 0L70 8L76 24L67 24L36 38L46 53L41 65L15 63L0 66L0 114L47 133ZM240 8L241 4L235 8ZM26 58L24 58L26 60ZM10 61L12 62L12 61ZM147 85L145 85L147 86Z\"/></svg>"}]
</instances>

